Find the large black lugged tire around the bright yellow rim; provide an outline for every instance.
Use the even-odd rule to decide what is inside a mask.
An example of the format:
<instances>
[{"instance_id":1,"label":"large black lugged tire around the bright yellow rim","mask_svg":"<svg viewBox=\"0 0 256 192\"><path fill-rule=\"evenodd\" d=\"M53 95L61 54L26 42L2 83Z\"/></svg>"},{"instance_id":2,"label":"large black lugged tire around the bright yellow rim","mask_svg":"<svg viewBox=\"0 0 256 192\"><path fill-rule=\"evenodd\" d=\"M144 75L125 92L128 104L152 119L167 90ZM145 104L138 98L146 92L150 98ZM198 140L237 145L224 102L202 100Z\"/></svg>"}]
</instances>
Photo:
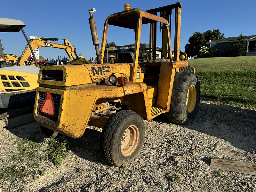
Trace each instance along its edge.
<instances>
[{"instance_id":1,"label":"large black lugged tire around the bright yellow rim","mask_svg":"<svg viewBox=\"0 0 256 192\"><path fill-rule=\"evenodd\" d=\"M196 104L190 113L187 110L186 100L191 85L196 89ZM181 71L175 73L170 111L166 118L176 124L189 124L196 118L200 103L200 83L198 77L191 72Z\"/></svg>"}]
</instances>

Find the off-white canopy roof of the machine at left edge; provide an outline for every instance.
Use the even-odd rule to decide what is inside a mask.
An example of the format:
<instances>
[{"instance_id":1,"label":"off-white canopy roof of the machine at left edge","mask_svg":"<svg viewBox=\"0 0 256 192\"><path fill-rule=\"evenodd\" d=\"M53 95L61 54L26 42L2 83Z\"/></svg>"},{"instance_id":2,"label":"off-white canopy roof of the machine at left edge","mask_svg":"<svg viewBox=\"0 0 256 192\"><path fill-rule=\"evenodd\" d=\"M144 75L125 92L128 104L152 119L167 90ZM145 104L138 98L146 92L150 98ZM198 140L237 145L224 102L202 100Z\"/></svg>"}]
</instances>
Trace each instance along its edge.
<instances>
[{"instance_id":1,"label":"off-white canopy roof of the machine at left edge","mask_svg":"<svg viewBox=\"0 0 256 192\"><path fill-rule=\"evenodd\" d=\"M19 32L25 26L21 20L0 18L0 32Z\"/></svg>"}]
</instances>

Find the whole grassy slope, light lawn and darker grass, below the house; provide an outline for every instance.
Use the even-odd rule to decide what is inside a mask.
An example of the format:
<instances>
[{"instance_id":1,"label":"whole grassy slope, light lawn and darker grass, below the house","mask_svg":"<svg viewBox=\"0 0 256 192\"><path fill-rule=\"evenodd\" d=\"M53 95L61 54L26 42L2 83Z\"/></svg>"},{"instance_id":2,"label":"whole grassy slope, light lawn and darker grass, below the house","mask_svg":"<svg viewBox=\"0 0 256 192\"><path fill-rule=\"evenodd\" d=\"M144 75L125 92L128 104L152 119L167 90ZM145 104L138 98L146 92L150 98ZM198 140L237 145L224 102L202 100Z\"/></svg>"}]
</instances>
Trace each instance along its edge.
<instances>
[{"instance_id":1,"label":"whole grassy slope, light lawn and darker grass, below the house","mask_svg":"<svg viewBox=\"0 0 256 192\"><path fill-rule=\"evenodd\" d=\"M188 65L196 68L204 99L256 107L256 56L201 58Z\"/></svg>"}]
</instances>

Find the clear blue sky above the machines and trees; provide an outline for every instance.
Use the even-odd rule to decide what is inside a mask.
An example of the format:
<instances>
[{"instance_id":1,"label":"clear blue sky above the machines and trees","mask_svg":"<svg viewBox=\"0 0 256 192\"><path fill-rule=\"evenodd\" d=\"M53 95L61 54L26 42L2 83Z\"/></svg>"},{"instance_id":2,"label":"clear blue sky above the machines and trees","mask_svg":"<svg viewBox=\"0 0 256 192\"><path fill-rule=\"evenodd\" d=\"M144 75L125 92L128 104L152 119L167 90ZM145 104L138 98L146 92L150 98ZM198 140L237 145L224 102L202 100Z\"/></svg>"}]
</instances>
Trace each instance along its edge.
<instances>
[{"instance_id":1,"label":"clear blue sky above the machines and trees","mask_svg":"<svg viewBox=\"0 0 256 192\"><path fill-rule=\"evenodd\" d=\"M59 39L68 39L76 47L77 53L81 53L86 59L95 59L95 48L89 28L88 10L95 8L93 16L96 18L99 39L101 43L103 26L106 18L115 12L124 10L124 4L131 4L131 8L139 8L146 11L178 1L2 1L1 16L5 18L22 20L27 36L40 36ZM225 37L236 37L243 33L244 36L256 35L255 7L256 0L183 0L181 1L181 39L180 49L184 51L185 44L195 31L203 33L207 30L220 29ZM174 15L172 16L174 19ZM172 20L174 26L174 20ZM149 43L149 26L142 28L141 43ZM157 29L160 35L160 29ZM174 29L171 29L174 35ZM4 53L12 53L20 56L27 44L23 34L0 33ZM108 42L114 41L117 46L134 43L134 32L120 28L109 27ZM59 43L62 43L60 41ZM171 38L171 43L174 43ZM161 36L157 38L157 45L161 47ZM101 44L99 45L101 47ZM64 50L41 47L39 54L48 59L63 57Z\"/></svg>"}]
</instances>

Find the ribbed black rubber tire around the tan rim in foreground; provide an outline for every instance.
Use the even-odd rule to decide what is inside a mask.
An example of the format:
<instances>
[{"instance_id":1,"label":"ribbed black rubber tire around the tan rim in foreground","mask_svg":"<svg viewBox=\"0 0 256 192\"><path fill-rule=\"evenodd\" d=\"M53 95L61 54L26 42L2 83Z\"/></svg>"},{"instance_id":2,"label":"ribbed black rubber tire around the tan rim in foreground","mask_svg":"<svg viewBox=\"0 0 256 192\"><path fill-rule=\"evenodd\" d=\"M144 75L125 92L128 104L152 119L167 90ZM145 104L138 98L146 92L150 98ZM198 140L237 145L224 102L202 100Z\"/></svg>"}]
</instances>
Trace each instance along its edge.
<instances>
[{"instance_id":1,"label":"ribbed black rubber tire around the tan rim in foreground","mask_svg":"<svg viewBox=\"0 0 256 192\"><path fill-rule=\"evenodd\" d=\"M121 150L121 141L125 131L130 126L138 128L137 146L131 154L124 155ZM102 130L100 152L102 157L111 165L120 167L133 161L140 153L145 138L145 125L142 117L131 110L122 110L111 116ZM129 141L128 141L129 142Z\"/></svg>"}]
</instances>

